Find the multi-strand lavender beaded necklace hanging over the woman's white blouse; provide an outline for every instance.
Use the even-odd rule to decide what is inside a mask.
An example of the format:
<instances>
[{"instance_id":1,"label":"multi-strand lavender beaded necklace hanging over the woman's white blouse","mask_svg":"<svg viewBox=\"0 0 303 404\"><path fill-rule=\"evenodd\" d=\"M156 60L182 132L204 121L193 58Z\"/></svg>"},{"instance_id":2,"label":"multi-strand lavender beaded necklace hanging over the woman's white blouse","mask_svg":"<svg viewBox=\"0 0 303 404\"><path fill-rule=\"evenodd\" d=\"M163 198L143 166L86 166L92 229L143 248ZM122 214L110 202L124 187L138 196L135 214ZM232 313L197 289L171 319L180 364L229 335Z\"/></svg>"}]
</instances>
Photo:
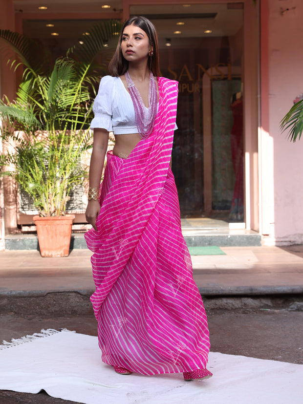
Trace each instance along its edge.
<instances>
[{"instance_id":1,"label":"multi-strand lavender beaded necklace hanging over the woman's white blouse","mask_svg":"<svg viewBox=\"0 0 303 404\"><path fill-rule=\"evenodd\" d=\"M157 114L157 85L153 74L150 72L149 81L149 107L143 103L142 97L133 84L130 78L130 73L127 70L125 73L126 82L130 91L130 97L135 110L135 120L139 133L143 139L146 139L151 134L153 123Z\"/></svg>"}]
</instances>

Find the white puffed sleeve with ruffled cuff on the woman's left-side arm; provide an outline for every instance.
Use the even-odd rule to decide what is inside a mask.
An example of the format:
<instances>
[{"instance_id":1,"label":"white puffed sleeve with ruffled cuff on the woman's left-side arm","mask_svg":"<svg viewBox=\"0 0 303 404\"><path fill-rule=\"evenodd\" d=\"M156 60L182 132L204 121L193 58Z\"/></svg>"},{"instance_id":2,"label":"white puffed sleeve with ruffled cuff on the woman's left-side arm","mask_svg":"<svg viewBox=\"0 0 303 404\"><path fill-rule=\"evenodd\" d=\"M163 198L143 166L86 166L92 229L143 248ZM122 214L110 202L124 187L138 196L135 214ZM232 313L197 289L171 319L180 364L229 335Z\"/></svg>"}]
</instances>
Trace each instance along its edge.
<instances>
[{"instance_id":1,"label":"white puffed sleeve with ruffled cuff on the woman's left-side arm","mask_svg":"<svg viewBox=\"0 0 303 404\"><path fill-rule=\"evenodd\" d=\"M99 85L98 94L95 98L92 110L94 118L90 123L90 128L103 128L108 131L112 130L112 95L113 95L113 77L102 77Z\"/></svg>"}]
</instances>

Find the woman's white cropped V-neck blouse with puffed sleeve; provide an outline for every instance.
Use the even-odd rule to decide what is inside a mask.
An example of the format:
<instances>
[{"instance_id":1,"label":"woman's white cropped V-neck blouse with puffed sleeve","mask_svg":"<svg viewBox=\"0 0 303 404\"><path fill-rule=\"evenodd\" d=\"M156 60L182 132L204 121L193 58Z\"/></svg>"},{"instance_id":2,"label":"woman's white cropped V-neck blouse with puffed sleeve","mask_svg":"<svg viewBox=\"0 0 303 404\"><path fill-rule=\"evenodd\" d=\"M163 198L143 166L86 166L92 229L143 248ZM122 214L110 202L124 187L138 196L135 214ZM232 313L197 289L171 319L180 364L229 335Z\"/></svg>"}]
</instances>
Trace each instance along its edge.
<instances>
[{"instance_id":1,"label":"woman's white cropped V-neck blouse with puffed sleeve","mask_svg":"<svg viewBox=\"0 0 303 404\"><path fill-rule=\"evenodd\" d=\"M112 130L115 135L139 132L130 93L120 77L102 77L92 110L95 117L90 123L91 129Z\"/></svg>"}]
</instances>

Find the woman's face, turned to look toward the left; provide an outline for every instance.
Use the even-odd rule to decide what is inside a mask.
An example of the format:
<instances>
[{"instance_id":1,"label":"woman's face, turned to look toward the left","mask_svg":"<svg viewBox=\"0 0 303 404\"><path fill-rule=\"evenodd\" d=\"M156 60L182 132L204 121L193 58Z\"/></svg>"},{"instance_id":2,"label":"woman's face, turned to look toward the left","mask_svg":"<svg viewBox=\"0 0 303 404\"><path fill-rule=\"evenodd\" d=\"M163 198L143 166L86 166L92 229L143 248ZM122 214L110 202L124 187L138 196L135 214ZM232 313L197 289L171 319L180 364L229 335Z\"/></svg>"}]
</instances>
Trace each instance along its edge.
<instances>
[{"instance_id":1,"label":"woman's face, turned to look toward the left","mask_svg":"<svg viewBox=\"0 0 303 404\"><path fill-rule=\"evenodd\" d=\"M128 25L122 34L121 51L128 62L148 60L150 41L147 33L136 25Z\"/></svg>"}]
</instances>

